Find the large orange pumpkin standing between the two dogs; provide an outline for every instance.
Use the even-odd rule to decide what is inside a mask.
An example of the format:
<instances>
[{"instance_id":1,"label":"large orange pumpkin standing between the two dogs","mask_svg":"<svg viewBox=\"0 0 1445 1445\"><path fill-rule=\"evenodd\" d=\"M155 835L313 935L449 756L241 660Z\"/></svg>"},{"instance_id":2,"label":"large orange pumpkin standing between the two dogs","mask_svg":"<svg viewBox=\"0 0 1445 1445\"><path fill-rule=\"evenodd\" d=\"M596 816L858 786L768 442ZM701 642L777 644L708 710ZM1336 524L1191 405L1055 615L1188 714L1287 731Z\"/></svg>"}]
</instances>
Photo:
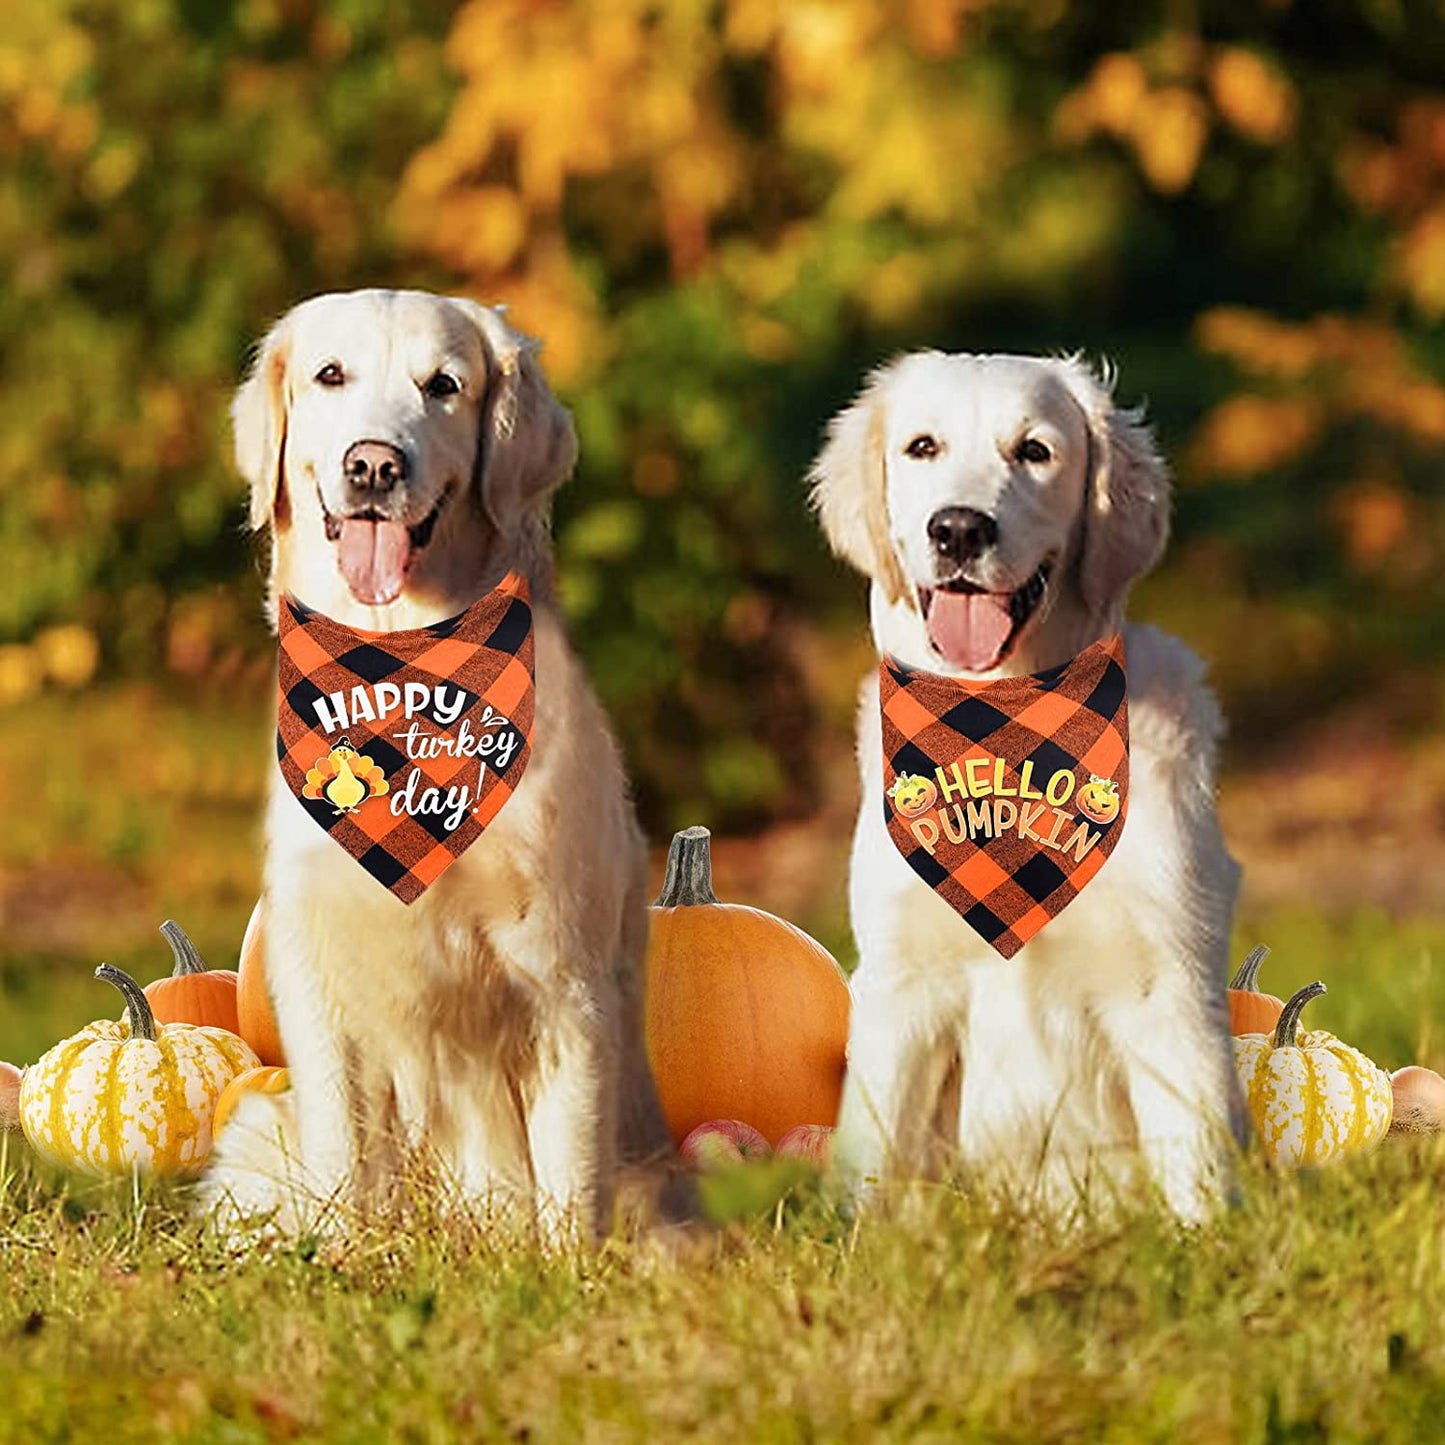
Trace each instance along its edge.
<instances>
[{"instance_id":1,"label":"large orange pumpkin standing between the two dogs","mask_svg":"<svg viewBox=\"0 0 1445 1445\"><path fill-rule=\"evenodd\" d=\"M673 1143L740 1118L776 1144L834 1124L848 1046L848 983L802 929L720 903L707 828L672 840L647 948L647 1058Z\"/></svg>"}]
</instances>

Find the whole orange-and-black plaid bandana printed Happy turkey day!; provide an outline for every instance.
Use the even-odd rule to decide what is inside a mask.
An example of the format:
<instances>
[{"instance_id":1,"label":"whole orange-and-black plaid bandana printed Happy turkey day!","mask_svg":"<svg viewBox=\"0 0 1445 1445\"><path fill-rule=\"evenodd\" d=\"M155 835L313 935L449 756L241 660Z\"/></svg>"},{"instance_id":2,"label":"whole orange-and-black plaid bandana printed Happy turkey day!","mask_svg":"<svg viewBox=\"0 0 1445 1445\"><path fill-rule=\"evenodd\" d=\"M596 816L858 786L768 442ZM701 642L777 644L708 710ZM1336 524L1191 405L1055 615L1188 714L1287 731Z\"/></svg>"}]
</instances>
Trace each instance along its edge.
<instances>
[{"instance_id":1,"label":"whole orange-and-black plaid bandana printed Happy turkey day!","mask_svg":"<svg viewBox=\"0 0 1445 1445\"><path fill-rule=\"evenodd\" d=\"M510 572L467 611L360 631L280 601L276 756L302 808L413 903L480 837L532 757L532 600Z\"/></svg>"}]
</instances>

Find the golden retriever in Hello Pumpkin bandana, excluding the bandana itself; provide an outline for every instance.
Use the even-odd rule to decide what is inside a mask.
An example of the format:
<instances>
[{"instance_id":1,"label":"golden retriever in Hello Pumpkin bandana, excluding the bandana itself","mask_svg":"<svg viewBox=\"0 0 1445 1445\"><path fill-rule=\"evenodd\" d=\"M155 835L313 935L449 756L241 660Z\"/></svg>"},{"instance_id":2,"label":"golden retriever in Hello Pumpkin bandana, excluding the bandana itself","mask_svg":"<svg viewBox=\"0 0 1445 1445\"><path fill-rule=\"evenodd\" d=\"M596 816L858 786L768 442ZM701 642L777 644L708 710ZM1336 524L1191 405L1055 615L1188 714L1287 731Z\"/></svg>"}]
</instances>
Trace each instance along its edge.
<instances>
[{"instance_id":1,"label":"golden retriever in Hello Pumpkin bandana, excluding the bandana itself","mask_svg":"<svg viewBox=\"0 0 1445 1445\"><path fill-rule=\"evenodd\" d=\"M1169 480L1111 390L1077 360L905 355L834 419L812 468L834 551L871 579L880 653L991 679L1121 629L1129 672L1127 827L1012 959L893 845L877 675L864 685L837 1137L855 1195L952 1168L1053 1212L1152 1183L1198 1220L1230 1185L1243 1114L1224 998L1238 868L1215 815L1222 722L1199 659L1123 621L1165 546Z\"/></svg>"}]
</instances>

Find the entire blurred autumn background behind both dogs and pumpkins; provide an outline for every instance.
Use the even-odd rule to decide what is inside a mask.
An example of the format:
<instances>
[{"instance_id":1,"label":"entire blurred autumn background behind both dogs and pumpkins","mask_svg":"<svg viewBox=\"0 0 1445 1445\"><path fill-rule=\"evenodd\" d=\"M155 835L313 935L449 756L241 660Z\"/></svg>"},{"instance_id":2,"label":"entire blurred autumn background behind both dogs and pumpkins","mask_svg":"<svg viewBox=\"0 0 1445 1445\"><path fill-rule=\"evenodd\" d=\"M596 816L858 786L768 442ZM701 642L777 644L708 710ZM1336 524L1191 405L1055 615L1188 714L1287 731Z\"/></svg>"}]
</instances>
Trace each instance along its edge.
<instances>
[{"instance_id":1,"label":"entire blurred autumn background behind both dogs and pumpkins","mask_svg":"<svg viewBox=\"0 0 1445 1445\"><path fill-rule=\"evenodd\" d=\"M844 958L868 647L821 428L906 347L1111 357L1176 471L1134 613L1224 696L1246 925L1428 962L1442 77L1439 0L10 0L0 1053L90 1017L82 961L159 971L165 916L234 957L273 652L227 402L361 285L545 338L564 603L647 829L708 824Z\"/></svg>"}]
</instances>

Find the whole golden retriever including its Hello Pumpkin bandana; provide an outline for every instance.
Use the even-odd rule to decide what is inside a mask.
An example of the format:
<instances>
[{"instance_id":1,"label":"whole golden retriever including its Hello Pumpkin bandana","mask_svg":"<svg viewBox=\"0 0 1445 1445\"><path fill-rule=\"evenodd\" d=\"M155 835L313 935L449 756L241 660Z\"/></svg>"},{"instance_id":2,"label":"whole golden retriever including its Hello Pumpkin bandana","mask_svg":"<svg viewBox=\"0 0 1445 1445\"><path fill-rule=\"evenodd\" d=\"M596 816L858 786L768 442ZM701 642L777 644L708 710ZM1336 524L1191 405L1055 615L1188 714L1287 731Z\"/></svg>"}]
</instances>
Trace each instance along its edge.
<instances>
[{"instance_id":1,"label":"whole golden retriever including its Hello Pumpkin bandana","mask_svg":"<svg viewBox=\"0 0 1445 1445\"><path fill-rule=\"evenodd\" d=\"M1124 621L1168 473L1077 360L916 353L812 468L870 582L858 715L851 1191L949 1172L1055 1212L1228 1194L1238 868L1204 666Z\"/></svg>"}]
</instances>

